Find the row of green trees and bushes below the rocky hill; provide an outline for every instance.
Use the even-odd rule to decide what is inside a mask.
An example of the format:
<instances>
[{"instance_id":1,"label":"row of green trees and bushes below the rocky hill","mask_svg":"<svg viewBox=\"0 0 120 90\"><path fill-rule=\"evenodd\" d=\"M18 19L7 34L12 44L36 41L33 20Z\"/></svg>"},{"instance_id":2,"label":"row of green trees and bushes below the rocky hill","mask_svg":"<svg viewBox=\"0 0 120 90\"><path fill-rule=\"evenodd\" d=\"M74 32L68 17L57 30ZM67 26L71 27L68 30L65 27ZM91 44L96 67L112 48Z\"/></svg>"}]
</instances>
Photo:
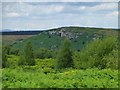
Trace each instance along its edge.
<instances>
[{"instance_id":1,"label":"row of green trees and bushes below the rocky hill","mask_svg":"<svg viewBox=\"0 0 120 90\"><path fill-rule=\"evenodd\" d=\"M26 43L23 50L19 52L18 65L35 65L35 58L54 58L56 69L61 68L118 68L118 41L115 37L105 37L104 39L96 39L88 44L80 51L72 50L71 41L65 39L58 51L51 51L41 48L33 51L30 42ZM6 66L7 55L10 54L9 47L2 48L2 66Z\"/></svg>"}]
</instances>

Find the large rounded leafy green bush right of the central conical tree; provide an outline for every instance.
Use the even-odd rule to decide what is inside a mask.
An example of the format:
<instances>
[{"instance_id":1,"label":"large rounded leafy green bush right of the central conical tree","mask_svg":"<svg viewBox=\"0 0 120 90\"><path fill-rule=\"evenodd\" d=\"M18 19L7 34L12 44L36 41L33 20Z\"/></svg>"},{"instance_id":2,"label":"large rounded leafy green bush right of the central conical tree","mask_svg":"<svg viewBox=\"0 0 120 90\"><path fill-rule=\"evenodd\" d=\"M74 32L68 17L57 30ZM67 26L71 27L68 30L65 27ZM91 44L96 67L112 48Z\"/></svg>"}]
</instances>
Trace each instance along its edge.
<instances>
[{"instance_id":1,"label":"large rounded leafy green bush right of the central conical tree","mask_svg":"<svg viewBox=\"0 0 120 90\"><path fill-rule=\"evenodd\" d=\"M91 41L81 52L76 52L73 56L75 68L92 68L101 69L112 67L117 68L117 39L114 37L106 37L103 40L97 39ZM115 58L114 58L115 57ZM114 60L115 59L115 60Z\"/></svg>"}]
</instances>

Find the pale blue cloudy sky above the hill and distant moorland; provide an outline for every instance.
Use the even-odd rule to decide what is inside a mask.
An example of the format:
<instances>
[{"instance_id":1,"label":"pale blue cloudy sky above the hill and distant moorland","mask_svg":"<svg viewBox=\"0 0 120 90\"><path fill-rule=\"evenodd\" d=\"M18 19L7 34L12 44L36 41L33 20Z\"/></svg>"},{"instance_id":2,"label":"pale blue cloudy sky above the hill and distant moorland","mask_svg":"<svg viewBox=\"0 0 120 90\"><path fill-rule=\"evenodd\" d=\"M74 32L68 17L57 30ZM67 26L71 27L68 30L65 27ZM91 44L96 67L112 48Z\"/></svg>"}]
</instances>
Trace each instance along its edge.
<instances>
[{"instance_id":1,"label":"pale blue cloudy sky above the hill and distant moorland","mask_svg":"<svg viewBox=\"0 0 120 90\"><path fill-rule=\"evenodd\" d=\"M5 1L0 3L1 30L46 30L64 26L118 28L118 3L112 2L113 0L110 0L111 2Z\"/></svg>"}]
</instances>

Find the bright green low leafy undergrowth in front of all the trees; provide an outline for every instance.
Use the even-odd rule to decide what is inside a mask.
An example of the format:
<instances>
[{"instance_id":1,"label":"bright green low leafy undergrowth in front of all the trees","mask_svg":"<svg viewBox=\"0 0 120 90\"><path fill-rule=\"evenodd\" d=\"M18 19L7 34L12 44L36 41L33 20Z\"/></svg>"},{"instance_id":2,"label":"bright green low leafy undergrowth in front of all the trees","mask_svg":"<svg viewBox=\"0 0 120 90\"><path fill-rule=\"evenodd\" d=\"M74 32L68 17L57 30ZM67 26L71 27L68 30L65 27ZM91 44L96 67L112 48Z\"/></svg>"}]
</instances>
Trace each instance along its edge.
<instances>
[{"instance_id":1,"label":"bright green low leafy undergrowth in front of all the trees","mask_svg":"<svg viewBox=\"0 0 120 90\"><path fill-rule=\"evenodd\" d=\"M3 69L3 88L118 88L118 71L97 68L65 69L45 74L42 69Z\"/></svg>"}]
</instances>

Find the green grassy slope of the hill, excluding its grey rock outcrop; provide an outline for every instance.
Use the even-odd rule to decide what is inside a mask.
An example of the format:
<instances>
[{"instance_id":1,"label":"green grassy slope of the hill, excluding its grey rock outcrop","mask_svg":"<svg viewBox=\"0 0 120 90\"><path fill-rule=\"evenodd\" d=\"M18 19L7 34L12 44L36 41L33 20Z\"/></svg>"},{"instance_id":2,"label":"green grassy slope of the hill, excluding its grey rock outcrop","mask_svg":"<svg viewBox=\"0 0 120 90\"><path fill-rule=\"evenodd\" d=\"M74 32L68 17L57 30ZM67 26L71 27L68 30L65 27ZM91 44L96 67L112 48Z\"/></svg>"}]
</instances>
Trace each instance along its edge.
<instances>
[{"instance_id":1,"label":"green grassy slope of the hill, excluding its grey rock outcrop","mask_svg":"<svg viewBox=\"0 0 120 90\"><path fill-rule=\"evenodd\" d=\"M65 32L78 33L79 37L77 39L72 39L72 47L74 49L81 49L85 43L99 36L117 36L116 30L111 29L100 29L100 28L80 28L80 27L61 27L56 29L51 29L49 31L64 30ZM80 35L82 33L82 35ZM88 37L88 38L87 38ZM52 34L49 38L48 31L42 32L39 35L32 36L23 40L22 42L16 42L13 44L14 48L22 48L26 42L32 42L33 48L38 49L41 47L54 49L59 47L61 41L65 37L60 37L57 34ZM83 44L84 43L84 44Z\"/></svg>"}]
</instances>

